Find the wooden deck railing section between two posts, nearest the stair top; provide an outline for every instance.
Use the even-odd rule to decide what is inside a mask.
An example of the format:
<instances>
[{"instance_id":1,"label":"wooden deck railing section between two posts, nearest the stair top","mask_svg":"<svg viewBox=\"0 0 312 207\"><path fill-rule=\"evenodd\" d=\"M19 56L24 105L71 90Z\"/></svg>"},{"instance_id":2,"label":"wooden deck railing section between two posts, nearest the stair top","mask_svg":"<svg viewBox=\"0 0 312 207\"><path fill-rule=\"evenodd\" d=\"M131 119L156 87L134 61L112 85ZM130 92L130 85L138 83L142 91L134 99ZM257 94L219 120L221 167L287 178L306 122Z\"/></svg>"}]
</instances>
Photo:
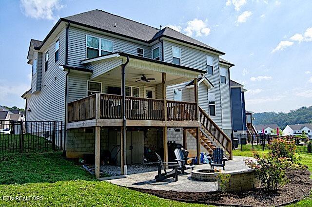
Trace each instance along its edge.
<instances>
[{"instance_id":1,"label":"wooden deck railing section between two posts, nearest the stair top","mask_svg":"<svg viewBox=\"0 0 312 207\"><path fill-rule=\"evenodd\" d=\"M196 103L167 100L169 121L197 121Z\"/></svg>"}]
</instances>

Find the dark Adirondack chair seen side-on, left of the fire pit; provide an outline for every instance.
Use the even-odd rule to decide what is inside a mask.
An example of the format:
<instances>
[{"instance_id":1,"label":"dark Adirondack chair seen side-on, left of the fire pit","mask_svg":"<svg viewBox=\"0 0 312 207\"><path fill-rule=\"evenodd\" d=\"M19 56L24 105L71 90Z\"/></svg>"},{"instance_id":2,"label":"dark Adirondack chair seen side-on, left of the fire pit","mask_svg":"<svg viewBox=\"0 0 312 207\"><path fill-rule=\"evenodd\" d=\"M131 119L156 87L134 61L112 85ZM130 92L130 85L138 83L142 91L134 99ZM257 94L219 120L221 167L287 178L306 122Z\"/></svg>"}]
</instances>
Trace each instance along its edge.
<instances>
[{"instance_id":1,"label":"dark Adirondack chair seen side-on, left of the fire pit","mask_svg":"<svg viewBox=\"0 0 312 207\"><path fill-rule=\"evenodd\" d=\"M178 164L176 162L162 162L161 157L155 152L158 158L158 174L155 176L156 182L165 180L167 178L173 177L177 181L177 168ZM170 172L167 172L166 167L173 167ZM164 170L164 173L161 173L161 170Z\"/></svg>"}]
</instances>

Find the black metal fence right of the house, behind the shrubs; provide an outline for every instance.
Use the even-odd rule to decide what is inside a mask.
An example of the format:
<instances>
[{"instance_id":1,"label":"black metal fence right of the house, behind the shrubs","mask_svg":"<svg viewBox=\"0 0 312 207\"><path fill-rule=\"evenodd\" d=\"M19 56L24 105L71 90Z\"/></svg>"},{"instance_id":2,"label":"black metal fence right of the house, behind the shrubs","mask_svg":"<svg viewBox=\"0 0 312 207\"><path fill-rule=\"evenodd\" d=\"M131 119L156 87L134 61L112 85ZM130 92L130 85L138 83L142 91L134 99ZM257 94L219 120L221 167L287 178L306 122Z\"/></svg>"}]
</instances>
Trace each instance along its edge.
<instances>
[{"instance_id":1,"label":"black metal fence right of the house, behind the shrubs","mask_svg":"<svg viewBox=\"0 0 312 207\"><path fill-rule=\"evenodd\" d=\"M269 150L269 144L273 139L285 139L294 141L296 152L312 153L312 139L297 136L276 136L269 134L232 134L233 149L240 151L264 151Z\"/></svg>"}]
</instances>

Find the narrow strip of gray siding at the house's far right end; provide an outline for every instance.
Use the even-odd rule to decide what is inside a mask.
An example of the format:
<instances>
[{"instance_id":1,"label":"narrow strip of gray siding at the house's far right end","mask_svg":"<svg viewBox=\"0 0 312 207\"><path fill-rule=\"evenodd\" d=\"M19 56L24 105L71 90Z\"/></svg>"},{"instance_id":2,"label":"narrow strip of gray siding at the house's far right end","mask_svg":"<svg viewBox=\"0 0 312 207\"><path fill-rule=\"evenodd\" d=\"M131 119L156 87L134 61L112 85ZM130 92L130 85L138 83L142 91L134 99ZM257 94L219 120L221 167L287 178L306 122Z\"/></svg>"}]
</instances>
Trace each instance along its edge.
<instances>
[{"instance_id":1,"label":"narrow strip of gray siding at the house's far right end","mask_svg":"<svg viewBox=\"0 0 312 207\"><path fill-rule=\"evenodd\" d=\"M231 115L231 95L230 95L230 78L229 68L226 69L226 83L220 83L220 94L222 104L222 127L223 129L232 129L232 115Z\"/></svg>"}]
</instances>

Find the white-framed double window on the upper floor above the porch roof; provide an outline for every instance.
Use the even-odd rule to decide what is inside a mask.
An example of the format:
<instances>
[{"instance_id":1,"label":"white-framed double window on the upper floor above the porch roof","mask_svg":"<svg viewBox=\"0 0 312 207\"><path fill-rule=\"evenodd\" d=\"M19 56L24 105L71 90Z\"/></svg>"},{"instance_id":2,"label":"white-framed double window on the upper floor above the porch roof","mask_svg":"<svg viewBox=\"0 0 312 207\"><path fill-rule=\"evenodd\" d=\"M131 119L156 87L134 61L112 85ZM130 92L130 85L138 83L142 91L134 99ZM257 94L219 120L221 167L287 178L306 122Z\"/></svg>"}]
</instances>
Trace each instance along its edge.
<instances>
[{"instance_id":1,"label":"white-framed double window on the upper floor above the porch roof","mask_svg":"<svg viewBox=\"0 0 312 207\"><path fill-rule=\"evenodd\" d=\"M112 40L86 35L86 58L103 56L113 51L114 42Z\"/></svg>"}]
</instances>

